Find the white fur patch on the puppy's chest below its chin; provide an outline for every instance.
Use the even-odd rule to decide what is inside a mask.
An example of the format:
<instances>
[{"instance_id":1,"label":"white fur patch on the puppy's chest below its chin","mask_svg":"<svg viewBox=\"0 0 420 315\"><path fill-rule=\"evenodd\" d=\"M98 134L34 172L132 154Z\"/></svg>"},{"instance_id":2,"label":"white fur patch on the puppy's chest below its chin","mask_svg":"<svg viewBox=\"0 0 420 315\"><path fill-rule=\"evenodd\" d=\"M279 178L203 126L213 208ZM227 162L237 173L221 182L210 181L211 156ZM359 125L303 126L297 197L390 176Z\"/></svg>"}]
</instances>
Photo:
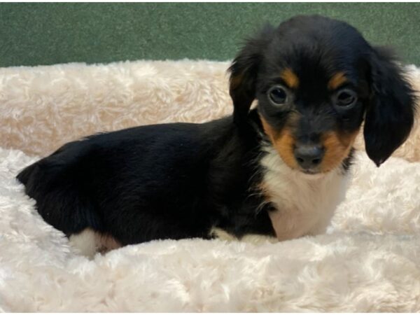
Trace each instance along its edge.
<instances>
[{"instance_id":1,"label":"white fur patch on the puppy's chest below its chin","mask_svg":"<svg viewBox=\"0 0 420 315\"><path fill-rule=\"evenodd\" d=\"M262 186L276 207L269 213L276 237L293 239L325 232L337 204L344 199L348 176L342 167L326 174L308 175L290 169L274 148L261 160Z\"/></svg>"}]
</instances>

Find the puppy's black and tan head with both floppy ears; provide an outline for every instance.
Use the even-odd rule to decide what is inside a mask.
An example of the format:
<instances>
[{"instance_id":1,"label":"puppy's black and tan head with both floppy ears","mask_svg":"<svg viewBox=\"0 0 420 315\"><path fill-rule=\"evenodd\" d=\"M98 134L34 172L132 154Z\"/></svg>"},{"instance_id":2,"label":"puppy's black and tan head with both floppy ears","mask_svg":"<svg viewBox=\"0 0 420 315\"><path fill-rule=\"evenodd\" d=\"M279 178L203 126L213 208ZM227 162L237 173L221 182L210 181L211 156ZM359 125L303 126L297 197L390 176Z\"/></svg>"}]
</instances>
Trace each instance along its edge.
<instances>
[{"instance_id":1,"label":"puppy's black and tan head with both floppy ears","mask_svg":"<svg viewBox=\"0 0 420 315\"><path fill-rule=\"evenodd\" d=\"M341 165L364 117L367 155L378 166L413 125L414 96L398 65L344 22L298 16L268 25L230 71L235 123L246 124L257 99L272 145L305 173Z\"/></svg>"}]
</instances>

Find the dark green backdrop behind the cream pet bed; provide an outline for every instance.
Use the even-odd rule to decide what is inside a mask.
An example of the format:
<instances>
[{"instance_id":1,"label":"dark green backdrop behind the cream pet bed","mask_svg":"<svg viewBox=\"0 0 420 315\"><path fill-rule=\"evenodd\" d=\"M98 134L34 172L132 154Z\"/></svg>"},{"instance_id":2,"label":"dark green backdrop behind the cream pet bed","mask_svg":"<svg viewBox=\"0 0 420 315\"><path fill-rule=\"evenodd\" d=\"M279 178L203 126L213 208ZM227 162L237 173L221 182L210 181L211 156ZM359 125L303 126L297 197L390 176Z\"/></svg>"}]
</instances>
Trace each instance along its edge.
<instances>
[{"instance_id":1,"label":"dark green backdrop behind the cream pet bed","mask_svg":"<svg viewBox=\"0 0 420 315\"><path fill-rule=\"evenodd\" d=\"M264 22L318 13L420 65L420 3L0 3L0 66L234 57Z\"/></svg>"}]
</instances>

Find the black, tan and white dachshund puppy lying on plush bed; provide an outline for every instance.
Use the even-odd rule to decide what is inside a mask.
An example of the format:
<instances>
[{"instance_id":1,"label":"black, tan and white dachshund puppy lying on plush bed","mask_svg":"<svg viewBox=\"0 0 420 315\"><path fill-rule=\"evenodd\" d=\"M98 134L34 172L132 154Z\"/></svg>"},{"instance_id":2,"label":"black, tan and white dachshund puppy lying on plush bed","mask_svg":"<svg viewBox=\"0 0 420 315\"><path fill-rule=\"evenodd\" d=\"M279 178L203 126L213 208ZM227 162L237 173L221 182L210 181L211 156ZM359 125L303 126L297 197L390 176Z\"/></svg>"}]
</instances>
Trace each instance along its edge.
<instances>
[{"instance_id":1,"label":"black, tan and white dachshund puppy lying on plush bed","mask_svg":"<svg viewBox=\"0 0 420 315\"><path fill-rule=\"evenodd\" d=\"M230 73L232 116L95 134L18 180L47 223L68 237L89 232L96 247L223 233L292 239L325 231L363 120L378 167L413 125L400 66L345 22L267 26Z\"/></svg>"}]
</instances>

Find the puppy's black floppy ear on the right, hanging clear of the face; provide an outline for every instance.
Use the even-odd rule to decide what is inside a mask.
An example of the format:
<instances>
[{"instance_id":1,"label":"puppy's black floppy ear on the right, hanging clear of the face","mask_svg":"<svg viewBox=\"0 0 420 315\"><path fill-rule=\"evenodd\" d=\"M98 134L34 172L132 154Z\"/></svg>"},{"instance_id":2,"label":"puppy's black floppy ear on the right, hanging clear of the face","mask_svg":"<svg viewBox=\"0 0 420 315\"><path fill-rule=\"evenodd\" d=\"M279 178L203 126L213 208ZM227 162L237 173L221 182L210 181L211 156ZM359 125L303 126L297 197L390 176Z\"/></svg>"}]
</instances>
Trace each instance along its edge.
<instances>
[{"instance_id":1,"label":"puppy's black floppy ear on the right, hanging clear of the face","mask_svg":"<svg viewBox=\"0 0 420 315\"><path fill-rule=\"evenodd\" d=\"M370 55L371 99L365 116L366 153L378 167L407 139L414 123L414 92L390 51Z\"/></svg>"}]
</instances>

